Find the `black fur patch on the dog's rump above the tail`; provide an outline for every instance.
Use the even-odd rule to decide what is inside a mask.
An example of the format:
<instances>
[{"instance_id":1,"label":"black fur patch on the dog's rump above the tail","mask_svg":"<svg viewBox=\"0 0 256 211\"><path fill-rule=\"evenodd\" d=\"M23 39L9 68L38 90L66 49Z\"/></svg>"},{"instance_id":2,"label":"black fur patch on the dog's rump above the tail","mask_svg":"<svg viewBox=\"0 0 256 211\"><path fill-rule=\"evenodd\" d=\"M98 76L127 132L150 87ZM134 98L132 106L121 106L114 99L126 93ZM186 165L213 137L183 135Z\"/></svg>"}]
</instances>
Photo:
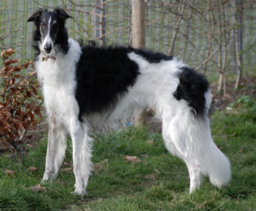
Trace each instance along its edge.
<instances>
[{"instance_id":1,"label":"black fur patch on the dog's rump above the tail","mask_svg":"<svg viewBox=\"0 0 256 211\"><path fill-rule=\"evenodd\" d=\"M184 99L195 111L196 115L203 115L205 112L205 92L209 89L209 83L204 75L196 73L188 67L183 67L182 72L178 75L179 86L173 96L177 100Z\"/></svg>"}]
</instances>

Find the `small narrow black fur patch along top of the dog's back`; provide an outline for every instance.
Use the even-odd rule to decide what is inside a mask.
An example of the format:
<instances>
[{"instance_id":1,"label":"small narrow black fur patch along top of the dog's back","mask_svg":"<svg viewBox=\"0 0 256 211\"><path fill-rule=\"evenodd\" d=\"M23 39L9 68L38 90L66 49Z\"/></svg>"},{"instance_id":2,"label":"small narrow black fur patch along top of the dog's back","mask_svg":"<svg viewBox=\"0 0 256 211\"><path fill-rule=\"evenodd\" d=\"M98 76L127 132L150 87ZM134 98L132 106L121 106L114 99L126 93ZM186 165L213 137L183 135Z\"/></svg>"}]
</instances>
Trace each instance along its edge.
<instances>
[{"instance_id":1,"label":"small narrow black fur patch along top of the dog's back","mask_svg":"<svg viewBox=\"0 0 256 211\"><path fill-rule=\"evenodd\" d=\"M142 56L146 61L150 63L159 63L162 60L171 60L173 56L167 56L164 53L148 51L145 49L133 49L133 52Z\"/></svg>"}]
</instances>

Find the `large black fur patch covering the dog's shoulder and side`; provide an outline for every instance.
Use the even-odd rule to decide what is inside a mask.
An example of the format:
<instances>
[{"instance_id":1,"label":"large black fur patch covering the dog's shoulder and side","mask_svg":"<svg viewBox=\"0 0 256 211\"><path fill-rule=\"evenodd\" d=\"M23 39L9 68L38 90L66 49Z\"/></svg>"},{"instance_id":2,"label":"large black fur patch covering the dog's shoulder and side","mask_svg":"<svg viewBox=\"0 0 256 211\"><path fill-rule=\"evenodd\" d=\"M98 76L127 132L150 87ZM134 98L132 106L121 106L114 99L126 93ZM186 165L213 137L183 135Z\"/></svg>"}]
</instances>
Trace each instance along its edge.
<instances>
[{"instance_id":1,"label":"large black fur patch covering the dog's shoulder and side","mask_svg":"<svg viewBox=\"0 0 256 211\"><path fill-rule=\"evenodd\" d=\"M77 64L76 99L79 120L83 114L111 109L118 97L133 86L139 74L138 64L129 59L132 48L85 46Z\"/></svg>"}]
</instances>

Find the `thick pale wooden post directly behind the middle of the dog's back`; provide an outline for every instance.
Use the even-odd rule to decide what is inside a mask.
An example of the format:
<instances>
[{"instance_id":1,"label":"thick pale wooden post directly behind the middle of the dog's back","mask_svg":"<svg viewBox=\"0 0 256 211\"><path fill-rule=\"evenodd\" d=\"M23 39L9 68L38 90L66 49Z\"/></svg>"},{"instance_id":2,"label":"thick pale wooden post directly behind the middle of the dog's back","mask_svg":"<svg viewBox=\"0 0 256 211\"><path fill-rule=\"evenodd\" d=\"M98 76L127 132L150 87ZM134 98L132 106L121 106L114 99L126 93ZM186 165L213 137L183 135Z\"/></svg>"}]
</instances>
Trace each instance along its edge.
<instances>
[{"instance_id":1,"label":"thick pale wooden post directly behind the middle of the dog's back","mask_svg":"<svg viewBox=\"0 0 256 211\"><path fill-rule=\"evenodd\" d=\"M132 46L145 47L145 1L132 0ZM146 118L146 109L135 111L135 127L142 126Z\"/></svg>"}]
</instances>

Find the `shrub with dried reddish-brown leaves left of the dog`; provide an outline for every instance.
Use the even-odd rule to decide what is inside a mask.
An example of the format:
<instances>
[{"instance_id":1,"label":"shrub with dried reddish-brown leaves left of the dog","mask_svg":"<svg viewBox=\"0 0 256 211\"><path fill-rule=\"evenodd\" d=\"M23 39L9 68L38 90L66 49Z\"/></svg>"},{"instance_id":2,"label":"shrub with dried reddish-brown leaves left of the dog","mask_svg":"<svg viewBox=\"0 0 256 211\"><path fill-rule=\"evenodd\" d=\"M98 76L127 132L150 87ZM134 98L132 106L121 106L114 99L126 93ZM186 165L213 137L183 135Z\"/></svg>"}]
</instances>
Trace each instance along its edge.
<instances>
[{"instance_id":1,"label":"shrub with dried reddish-brown leaves left of the dog","mask_svg":"<svg viewBox=\"0 0 256 211\"><path fill-rule=\"evenodd\" d=\"M0 71L0 141L15 146L23 130L35 128L42 117L35 72L24 76L21 70L33 65L32 61L21 64L12 58L14 49L1 51L4 67Z\"/></svg>"}]
</instances>

